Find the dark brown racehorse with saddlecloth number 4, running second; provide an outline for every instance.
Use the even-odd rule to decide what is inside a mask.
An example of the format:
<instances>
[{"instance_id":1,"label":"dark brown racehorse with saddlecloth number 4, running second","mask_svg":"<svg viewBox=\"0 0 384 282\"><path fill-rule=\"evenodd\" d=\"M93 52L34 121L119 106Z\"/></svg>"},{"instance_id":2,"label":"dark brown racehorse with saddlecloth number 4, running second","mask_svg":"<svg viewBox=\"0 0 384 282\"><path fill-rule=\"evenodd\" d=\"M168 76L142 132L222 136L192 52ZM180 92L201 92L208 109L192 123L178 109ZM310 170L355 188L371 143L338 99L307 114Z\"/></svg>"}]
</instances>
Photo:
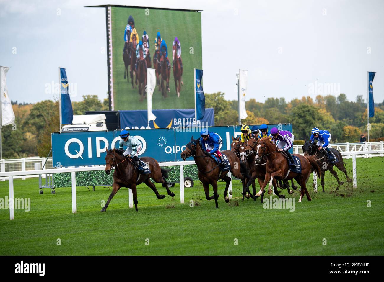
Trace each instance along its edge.
<instances>
[{"instance_id":1,"label":"dark brown racehorse with saddlecloth number 4, running second","mask_svg":"<svg viewBox=\"0 0 384 282\"><path fill-rule=\"evenodd\" d=\"M217 163L213 160L213 158L205 155L199 142L200 142L200 138L194 139L192 136L190 142L187 143L187 145L185 145L185 150L180 155L183 160L185 160L188 157L194 157L197 168L199 169L199 179L203 183L205 198L207 200L215 199L216 208L218 208L217 198L219 197L219 195L217 194L217 180L221 179L221 180L224 180L226 183L225 190L224 190L224 200L225 200L225 203L228 203L229 198L227 196L227 193L228 193L228 186L231 181L231 178L227 175L228 171L221 172L220 168L218 167ZM240 160L237 157L237 155L227 150L222 151L222 153L225 153L225 155L227 156L230 162L230 165L231 165L230 172L236 178L239 178L242 180L243 176L240 172L240 165L238 165ZM213 196L209 196L209 184L212 185L212 188L214 190ZM243 193L244 193L244 189L243 189Z\"/></svg>"}]
</instances>

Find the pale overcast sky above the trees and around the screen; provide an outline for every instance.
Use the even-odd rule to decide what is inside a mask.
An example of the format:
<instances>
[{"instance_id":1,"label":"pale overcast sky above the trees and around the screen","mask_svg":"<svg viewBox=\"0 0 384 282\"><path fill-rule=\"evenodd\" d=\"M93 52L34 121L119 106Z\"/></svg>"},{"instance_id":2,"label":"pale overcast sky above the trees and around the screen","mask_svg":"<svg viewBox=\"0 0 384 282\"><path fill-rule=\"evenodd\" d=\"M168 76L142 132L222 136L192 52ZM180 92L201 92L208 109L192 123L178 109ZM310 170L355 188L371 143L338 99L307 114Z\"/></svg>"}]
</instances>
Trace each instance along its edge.
<instances>
[{"instance_id":1,"label":"pale overcast sky above the trees and around the screen","mask_svg":"<svg viewBox=\"0 0 384 282\"><path fill-rule=\"evenodd\" d=\"M72 101L106 97L105 9L84 8L103 4L203 10L205 93L237 99L235 74L245 69L247 100L316 97L311 86L334 83L332 93L320 94L339 89L355 101L357 95L366 98L367 71L376 71L374 99L384 100L382 0L0 0L0 65L11 67L13 101L53 99L46 84L58 81L58 66L77 85Z\"/></svg>"}]
</instances>

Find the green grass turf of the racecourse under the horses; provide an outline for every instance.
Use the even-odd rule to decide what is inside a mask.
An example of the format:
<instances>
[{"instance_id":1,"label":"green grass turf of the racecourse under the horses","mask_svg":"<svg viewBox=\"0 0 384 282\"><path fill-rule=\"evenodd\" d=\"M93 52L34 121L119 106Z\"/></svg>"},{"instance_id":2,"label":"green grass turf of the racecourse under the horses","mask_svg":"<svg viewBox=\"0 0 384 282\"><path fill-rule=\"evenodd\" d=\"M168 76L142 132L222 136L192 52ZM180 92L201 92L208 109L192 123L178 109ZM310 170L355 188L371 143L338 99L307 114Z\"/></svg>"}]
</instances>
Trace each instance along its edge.
<instances>
[{"instance_id":1,"label":"green grass turf of the racecourse under the horses","mask_svg":"<svg viewBox=\"0 0 384 282\"><path fill-rule=\"evenodd\" d=\"M352 160L345 162L352 176ZM37 179L15 180L15 198L31 198L31 210L15 209L10 221L8 209L0 209L0 255L383 255L383 162L380 157L357 159L357 189L344 184L336 191L336 180L327 172L325 193L321 186L314 193L308 181L310 202L305 197L297 203L298 191L291 196L283 190L296 198L295 212L264 209L260 199L242 201L238 181L233 181L229 204L220 183L215 209L196 181L185 189L184 204L178 185L171 188L175 198L164 200L140 185L138 213L128 208L126 188L100 213L108 188L78 187L77 213L72 214L71 188L57 188L53 195L45 189L39 195ZM0 183L0 198L6 195L8 181ZM190 200L195 201L193 208Z\"/></svg>"}]
</instances>

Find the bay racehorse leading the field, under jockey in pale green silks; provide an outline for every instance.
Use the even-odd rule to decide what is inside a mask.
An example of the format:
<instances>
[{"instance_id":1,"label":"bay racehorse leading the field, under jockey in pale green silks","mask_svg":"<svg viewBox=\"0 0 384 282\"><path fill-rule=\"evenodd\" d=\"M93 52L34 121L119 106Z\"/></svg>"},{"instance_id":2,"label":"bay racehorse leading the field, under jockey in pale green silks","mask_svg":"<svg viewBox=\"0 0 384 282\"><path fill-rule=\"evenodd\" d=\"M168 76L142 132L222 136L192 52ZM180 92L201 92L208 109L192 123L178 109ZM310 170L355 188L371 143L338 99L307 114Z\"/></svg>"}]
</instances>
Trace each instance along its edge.
<instances>
[{"instance_id":1,"label":"bay racehorse leading the field, under jockey in pale green silks","mask_svg":"<svg viewBox=\"0 0 384 282\"><path fill-rule=\"evenodd\" d=\"M108 201L106 202L104 208L101 209L101 212L106 211L108 208L109 202L112 200L113 196L119 191L121 187L127 187L132 190L133 202L135 204L135 209L137 211L137 191L136 186L140 183L145 183L150 187L156 194L157 199L164 199L165 195L160 195L156 189L154 183L150 180L152 178L156 183L161 183L164 188L166 188L169 196L174 197L175 194L171 192L168 188L166 178L168 178L168 170L164 170L159 167L159 163L151 157L142 157L141 160L147 164L151 173L139 174L136 170L133 161L130 158L126 158L122 155L124 150L115 149L108 150L105 148L107 155L105 156L105 172L110 174L111 170L115 168L113 173L113 188L111 195L109 195Z\"/></svg>"}]
</instances>

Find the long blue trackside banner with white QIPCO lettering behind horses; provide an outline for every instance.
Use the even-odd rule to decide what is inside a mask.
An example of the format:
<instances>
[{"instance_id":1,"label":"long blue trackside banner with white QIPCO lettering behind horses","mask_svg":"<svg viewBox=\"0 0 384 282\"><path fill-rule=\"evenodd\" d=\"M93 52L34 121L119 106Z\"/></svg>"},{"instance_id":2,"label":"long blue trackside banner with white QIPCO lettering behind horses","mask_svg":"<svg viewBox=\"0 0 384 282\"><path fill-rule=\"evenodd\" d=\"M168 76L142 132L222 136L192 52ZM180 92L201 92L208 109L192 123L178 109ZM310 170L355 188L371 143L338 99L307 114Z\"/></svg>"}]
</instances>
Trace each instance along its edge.
<instances>
[{"instance_id":1,"label":"long blue trackside banner with white QIPCO lettering behind horses","mask_svg":"<svg viewBox=\"0 0 384 282\"><path fill-rule=\"evenodd\" d=\"M233 126L208 127L220 135L221 150L230 146ZM136 129L129 134L142 144L139 157L153 157L158 162L181 160L180 153L190 141L200 137L200 127L177 127L170 129ZM53 166L71 167L85 165L104 165L105 148L119 148L119 131L65 132L52 134ZM126 147L124 147L126 149Z\"/></svg>"}]
</instances>

